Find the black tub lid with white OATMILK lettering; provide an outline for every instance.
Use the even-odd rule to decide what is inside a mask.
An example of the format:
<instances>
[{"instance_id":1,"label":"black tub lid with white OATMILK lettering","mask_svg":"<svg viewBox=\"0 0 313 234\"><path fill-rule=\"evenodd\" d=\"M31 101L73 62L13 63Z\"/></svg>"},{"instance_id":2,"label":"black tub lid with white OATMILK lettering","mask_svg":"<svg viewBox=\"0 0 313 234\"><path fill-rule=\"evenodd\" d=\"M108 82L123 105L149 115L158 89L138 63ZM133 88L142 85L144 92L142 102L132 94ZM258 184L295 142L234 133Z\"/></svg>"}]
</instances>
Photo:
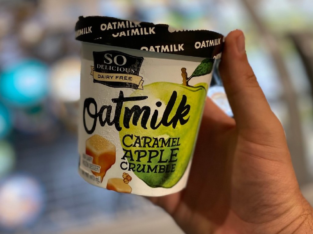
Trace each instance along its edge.
<instances>
[{"instance_id":1,"label":"black tub lid with white OATMILK lettering","mask_svg":"<svg viewBox=\"0 0 313 234\"><path fill-rule=\"evenodd\" d=\"M103 16L80 16L76 40L176 55L215 58L223 35L208 30L176 30L166 24L131 22Z\"/></svg>"}]
</instances>

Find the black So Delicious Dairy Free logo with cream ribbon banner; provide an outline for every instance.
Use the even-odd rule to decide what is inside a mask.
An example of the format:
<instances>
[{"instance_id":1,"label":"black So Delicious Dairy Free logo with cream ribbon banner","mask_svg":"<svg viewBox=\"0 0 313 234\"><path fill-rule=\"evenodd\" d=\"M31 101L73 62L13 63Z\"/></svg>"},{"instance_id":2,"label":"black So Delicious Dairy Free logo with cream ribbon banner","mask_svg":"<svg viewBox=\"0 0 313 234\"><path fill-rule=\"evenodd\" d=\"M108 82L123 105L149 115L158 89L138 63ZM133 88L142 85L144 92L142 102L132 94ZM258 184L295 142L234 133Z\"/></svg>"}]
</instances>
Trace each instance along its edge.
<instances>
[{"instance_id":1,"label":"black So Delicious Dairy Free logo with cream ribbon banner","mask_svg":"<svg viewBox=\"0 0 313 234\"><path fill-rule=\"evenodd\" d=\"M90 75L95 83L115 88L143 89L143 78L139 70L143 57L132 56L119 51L93 52L94 66Z\"/></svg>"}]
</instances>

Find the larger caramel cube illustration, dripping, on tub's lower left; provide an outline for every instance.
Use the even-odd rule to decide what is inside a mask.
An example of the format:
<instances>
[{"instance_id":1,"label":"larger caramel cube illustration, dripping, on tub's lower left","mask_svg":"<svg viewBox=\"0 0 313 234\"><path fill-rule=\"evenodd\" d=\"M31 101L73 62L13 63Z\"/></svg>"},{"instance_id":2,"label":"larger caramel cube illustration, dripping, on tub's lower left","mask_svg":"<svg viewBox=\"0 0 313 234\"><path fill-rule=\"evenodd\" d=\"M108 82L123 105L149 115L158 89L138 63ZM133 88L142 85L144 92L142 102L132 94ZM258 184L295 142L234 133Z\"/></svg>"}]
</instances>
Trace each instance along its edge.
<instances>
[{"instance_id":1,"label":"larger caramel cube illustration, dripping, on tub's lower left","mask_svg":"<svg viewBox=\"0 0 313 234\"><path fill-rule=\"evenodd\" d=\"M115 163L115 145L100 135L93 135L86 140L86 154L93 157L92 163L100 166L100 172L92 171L95 176L101 176Z\"/></svg>"}]
</instances>

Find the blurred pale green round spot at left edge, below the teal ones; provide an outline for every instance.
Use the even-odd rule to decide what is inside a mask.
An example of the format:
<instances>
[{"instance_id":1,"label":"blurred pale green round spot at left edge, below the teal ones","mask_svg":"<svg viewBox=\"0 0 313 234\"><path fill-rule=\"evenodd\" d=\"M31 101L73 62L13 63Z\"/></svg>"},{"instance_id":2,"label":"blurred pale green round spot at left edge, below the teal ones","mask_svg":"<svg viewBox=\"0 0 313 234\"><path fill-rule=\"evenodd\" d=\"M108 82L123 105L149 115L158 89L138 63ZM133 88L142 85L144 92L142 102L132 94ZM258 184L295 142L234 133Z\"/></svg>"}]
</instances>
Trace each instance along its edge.
<instances>
[{"instance_id":1,"label":"blurred pale green round spot at left edge, below the teal ones","mask_svg":"<svg viewBox=\"0 0 313 234\"><path fill-rule=\"evenodd\" d=\"M11 144L0 141L0 178L9 173L15 164L15 152Z\"/></svg>"}]
</instances>

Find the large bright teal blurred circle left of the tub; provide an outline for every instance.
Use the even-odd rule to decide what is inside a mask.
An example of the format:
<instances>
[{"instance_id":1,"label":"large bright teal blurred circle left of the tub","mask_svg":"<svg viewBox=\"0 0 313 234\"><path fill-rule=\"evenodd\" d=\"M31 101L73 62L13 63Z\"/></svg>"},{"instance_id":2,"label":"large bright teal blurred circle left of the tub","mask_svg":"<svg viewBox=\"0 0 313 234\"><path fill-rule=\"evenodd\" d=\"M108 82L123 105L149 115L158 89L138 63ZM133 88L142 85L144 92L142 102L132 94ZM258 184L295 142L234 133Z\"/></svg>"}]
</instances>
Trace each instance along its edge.
<instances>
[{"instance_id":1,"label":"large bright teal blurred circle left of the tub","mask_svg":"<svg viewBox=\"0 0 313 234\"><path fill-rule=\"evenodd\" d=\"M48 94L48 67L37 60L23 60L3 70L0 95L10 105L38 104Z\"/></svg>"}]
</instances>

